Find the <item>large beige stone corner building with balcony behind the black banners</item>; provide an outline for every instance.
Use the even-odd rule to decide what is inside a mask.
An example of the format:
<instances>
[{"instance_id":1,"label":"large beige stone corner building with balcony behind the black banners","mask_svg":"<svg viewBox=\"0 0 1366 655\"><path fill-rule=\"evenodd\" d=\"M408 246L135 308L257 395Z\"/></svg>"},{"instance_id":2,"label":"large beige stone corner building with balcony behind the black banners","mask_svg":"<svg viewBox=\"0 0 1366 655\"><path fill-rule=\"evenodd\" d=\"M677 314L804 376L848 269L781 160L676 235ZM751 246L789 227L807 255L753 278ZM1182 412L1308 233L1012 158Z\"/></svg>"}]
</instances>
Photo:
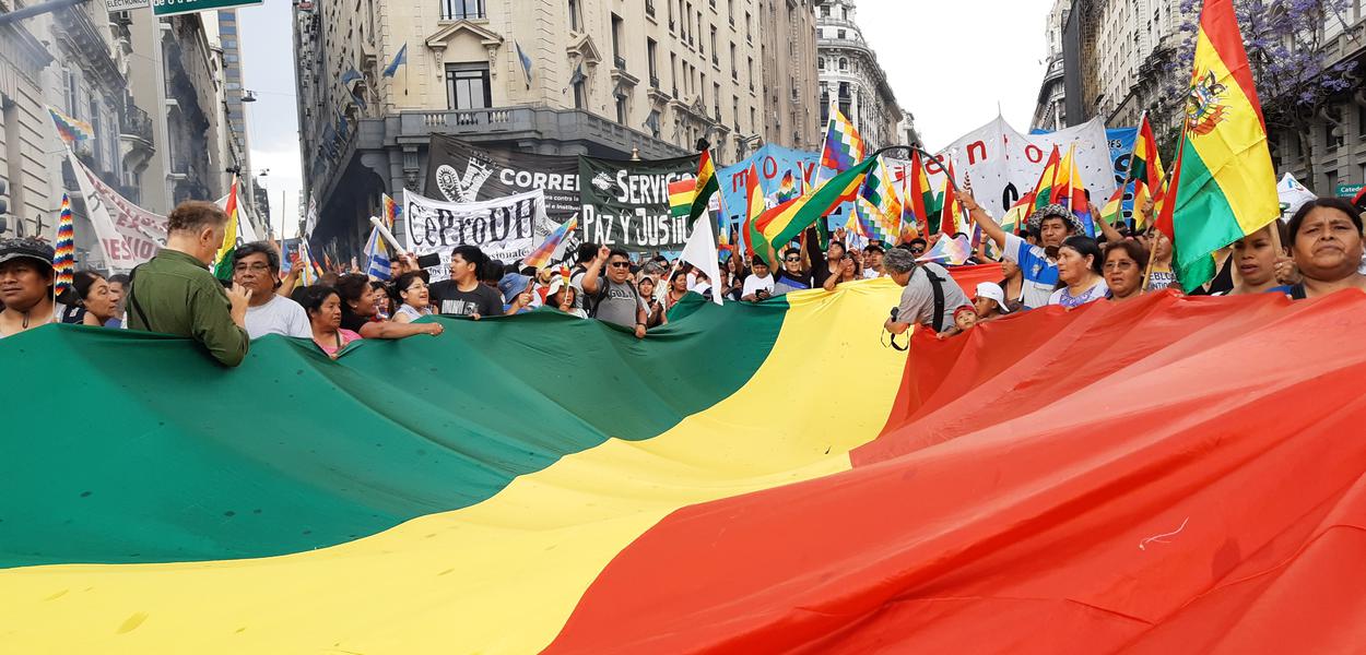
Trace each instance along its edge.
<instances>
[{"instance_id":1,"label":"large beige stone corner building with balcony behind the black banners","mask_svg":"<svg viewBox=\"0 0 1366 655\"><path fill-rule=\"evenodd\" d=\"M620 158L687 154L706 138L720 162L738 160L765 134L762 4L296 3L313 240L358 248L380 194L421 190L433 132Z\"/></svg>"}]
</instances>

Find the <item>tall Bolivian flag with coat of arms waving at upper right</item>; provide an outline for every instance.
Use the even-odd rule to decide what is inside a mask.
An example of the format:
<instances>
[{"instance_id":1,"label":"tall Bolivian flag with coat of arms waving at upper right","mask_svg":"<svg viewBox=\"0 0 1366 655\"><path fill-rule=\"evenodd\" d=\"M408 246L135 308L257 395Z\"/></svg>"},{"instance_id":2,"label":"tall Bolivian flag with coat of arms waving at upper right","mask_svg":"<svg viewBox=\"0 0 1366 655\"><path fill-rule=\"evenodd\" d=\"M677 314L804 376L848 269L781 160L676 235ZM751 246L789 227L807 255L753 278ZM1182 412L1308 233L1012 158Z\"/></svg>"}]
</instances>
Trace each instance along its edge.
<instances>
[{"instance_id":1,"label":"tall Bolivian flag with coat of arms waving at upper right","mask_svg":"<svg viewBox=\"0 0 1366 655\"><path fill-rule=\"evenodd\" d=\"M1280 216L1266 123L1232 0L1205 0L1186 126L1157 228L1186 291L1214 277L1210 254Z\"/></svg>"}]
</instances>

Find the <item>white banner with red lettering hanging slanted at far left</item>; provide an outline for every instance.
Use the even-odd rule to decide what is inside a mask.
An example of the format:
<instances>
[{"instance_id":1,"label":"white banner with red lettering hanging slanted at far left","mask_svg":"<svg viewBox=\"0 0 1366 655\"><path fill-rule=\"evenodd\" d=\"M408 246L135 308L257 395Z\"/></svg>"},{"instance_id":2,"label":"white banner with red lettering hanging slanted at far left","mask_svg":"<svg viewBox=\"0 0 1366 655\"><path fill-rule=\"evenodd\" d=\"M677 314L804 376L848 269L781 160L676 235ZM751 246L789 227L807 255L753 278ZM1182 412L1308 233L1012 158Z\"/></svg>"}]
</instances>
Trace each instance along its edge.
<instances>
[{"instance_id":1,"label":"white banner with red lettering hanging slanted at far left","mask_svg":"<svg viewBox=\"0 0 1366 655\"><path fill-rule=\"evenodd\" d=\"M94 172L67 153L85 198L86 217L104 248L105 266L128 270L152 259L167 239L167 217L153 214L109 188Z\"/></svg>"}]
</instances>

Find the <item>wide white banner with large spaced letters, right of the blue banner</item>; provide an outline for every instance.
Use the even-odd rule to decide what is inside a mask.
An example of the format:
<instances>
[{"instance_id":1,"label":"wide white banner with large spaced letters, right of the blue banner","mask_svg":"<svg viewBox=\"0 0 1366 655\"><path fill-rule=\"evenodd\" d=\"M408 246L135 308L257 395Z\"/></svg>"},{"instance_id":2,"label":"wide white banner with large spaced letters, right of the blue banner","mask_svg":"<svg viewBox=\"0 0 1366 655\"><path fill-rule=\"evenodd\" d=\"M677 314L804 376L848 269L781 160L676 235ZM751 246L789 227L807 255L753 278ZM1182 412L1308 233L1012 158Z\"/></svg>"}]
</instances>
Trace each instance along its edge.
<instances>
[{"instance_id":1,"label":"wide white banner with large spaced letters, right of the blue banner","mask_svg":"<svg viewBox=\"0 0 1366 655\"><path fill-rule=\"evenodd\" d=\"M997 117L955 141L938 156L945 162L953 162L956 181L971 184L977 202L1000 220L1015 201L1034 190L1055 145L1063 157L1067 157L1070 146L1076 146L1082 181L1091 192L1091 202L1104 206L1115 192L1115 172L1101 119L1052 134L1023 135L1005 119ZM944 184L944 168L934 161L926 162L925 168L930 188L938 192ZM892 165L892 175L900 180L903 165Z\"/></svg>"}]
</instances>

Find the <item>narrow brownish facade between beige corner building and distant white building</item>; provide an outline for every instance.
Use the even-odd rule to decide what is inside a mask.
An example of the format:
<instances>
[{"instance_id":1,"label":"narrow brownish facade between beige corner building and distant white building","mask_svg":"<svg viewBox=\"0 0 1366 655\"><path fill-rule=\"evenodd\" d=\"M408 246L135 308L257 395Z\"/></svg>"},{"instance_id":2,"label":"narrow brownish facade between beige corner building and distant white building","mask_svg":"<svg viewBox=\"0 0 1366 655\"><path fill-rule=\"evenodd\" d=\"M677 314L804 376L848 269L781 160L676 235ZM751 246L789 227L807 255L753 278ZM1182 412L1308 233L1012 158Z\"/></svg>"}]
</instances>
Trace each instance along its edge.
<instances>
[{"instance_id":1,"label":"narrow brownish facade between beige corner building and distant white building","mask_svg":"<svg viewBox=\"0 0 1366 655\"><path fill-rule=\"evenodd\" d=\"M761 0L758 8L764 141L817 150L822 126L817 124L816 1Z\"/></svg>"}]
</instances>

